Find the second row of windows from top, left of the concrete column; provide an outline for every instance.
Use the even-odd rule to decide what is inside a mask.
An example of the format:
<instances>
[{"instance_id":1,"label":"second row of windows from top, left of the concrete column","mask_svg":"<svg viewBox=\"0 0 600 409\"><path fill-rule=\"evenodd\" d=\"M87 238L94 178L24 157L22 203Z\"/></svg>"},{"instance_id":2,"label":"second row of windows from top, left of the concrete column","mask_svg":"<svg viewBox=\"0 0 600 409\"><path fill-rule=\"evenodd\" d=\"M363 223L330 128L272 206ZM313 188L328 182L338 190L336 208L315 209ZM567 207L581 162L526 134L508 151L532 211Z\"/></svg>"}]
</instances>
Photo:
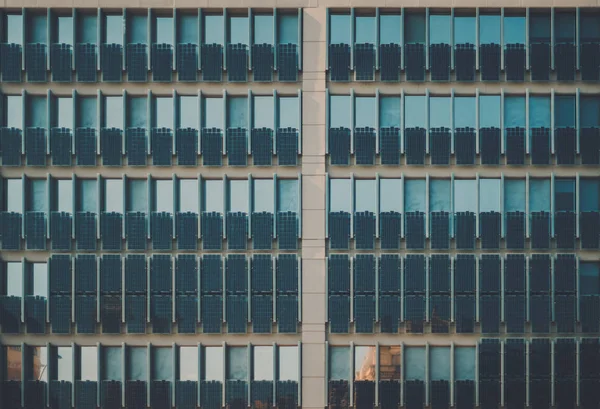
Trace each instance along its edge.
<instances>
[{"instance_id":1,"label":"second row of windows from top, left of the concrete column","mask_svg":"<svg viewBox=\"0 0 600 409\"><path fill-rule=\"evenodd\" d=\"M5 166L295 166L295 96L7 95L0 128ZM25 156L23 161L22 156ZM149 161L151 155L151 161ZM250 156L251 155L251 156Z\"/></svg>"}]
</instances>

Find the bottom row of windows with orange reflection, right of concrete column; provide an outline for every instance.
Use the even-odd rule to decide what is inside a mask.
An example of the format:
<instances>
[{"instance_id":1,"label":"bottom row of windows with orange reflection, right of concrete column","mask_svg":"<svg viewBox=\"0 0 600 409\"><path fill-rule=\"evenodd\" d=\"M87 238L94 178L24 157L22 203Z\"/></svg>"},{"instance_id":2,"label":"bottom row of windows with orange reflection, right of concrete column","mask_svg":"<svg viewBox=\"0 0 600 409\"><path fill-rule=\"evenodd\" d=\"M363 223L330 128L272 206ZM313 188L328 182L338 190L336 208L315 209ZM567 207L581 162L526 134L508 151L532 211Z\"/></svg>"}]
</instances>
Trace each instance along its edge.
<instances>
[{"instance_id":1,"label":"bottom row of windows with orange reflection, right of concrete column","mask_svg":"<svg viewBox=\"0 0 600 409\"><path fill-rule=\"evenodd\" d=\"M588 407L596 399L599 355L598 341L589 338L484 339L456 347L331 346L328 406Z\"/></svg>"}]
</instances>

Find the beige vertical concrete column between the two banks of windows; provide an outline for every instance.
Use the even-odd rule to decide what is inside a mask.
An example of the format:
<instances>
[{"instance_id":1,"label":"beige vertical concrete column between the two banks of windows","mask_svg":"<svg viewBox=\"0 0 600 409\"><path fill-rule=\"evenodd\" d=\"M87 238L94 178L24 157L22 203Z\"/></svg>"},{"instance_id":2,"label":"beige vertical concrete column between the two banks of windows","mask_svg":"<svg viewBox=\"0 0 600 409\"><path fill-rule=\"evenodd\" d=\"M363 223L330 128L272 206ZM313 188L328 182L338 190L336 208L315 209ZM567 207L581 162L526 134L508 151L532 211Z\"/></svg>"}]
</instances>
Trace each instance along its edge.
<instances>
[{"instance_id":1,"label":"beige vertical concrete column between the two banks of windows","mask_svg":"<svg viewBox=\"0 0 600 409\"><path fill-rule=\"evenodd\" d=\"M327 9L303 16L302 81L302 406L322 409L325 390L325 56Z\"/></svg>"}]
</instances>

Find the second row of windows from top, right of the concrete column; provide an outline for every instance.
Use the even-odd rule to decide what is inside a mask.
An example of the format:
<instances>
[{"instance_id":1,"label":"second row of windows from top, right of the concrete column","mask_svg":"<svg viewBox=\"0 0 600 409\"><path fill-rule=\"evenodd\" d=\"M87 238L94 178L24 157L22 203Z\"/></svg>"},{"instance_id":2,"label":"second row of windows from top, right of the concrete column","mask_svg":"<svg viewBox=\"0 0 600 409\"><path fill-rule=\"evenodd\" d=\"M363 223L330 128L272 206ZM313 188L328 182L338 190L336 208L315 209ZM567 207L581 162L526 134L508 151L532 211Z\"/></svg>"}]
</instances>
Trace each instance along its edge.
<instances>
[{"instance_id":1,"label":"second row of windows from top, right of the concrete column","mask_svg":"<svg viewBox=\"0 0 600 409\"><path fill-rule=\"evenodd\" d=\"M332 165L597 165L600 99L551 95L329 95Z\"/></svg>"}]
</instances>

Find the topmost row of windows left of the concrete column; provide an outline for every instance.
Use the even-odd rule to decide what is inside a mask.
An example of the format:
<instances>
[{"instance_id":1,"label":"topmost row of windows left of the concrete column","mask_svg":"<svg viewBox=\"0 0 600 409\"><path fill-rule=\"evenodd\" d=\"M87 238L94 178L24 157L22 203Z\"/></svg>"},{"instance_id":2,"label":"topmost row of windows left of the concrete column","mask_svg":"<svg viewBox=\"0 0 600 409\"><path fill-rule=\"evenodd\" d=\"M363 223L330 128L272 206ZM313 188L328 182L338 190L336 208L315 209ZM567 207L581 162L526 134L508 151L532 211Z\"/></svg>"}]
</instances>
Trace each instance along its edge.
<instances>
[{"instance_id":1,"label":"topmost row of windows left of the concrete column","mask_svg":"<svg viewBox=\"0 0 600 409\"><path fill-rule=\"evenodd\" d=\"M24 9L6 13L0 37L4 82L123 80L297 81L301 69L301 9L106 10ZM24 64L23 64L24 63Z\"/></svg>"}]
</instances>

